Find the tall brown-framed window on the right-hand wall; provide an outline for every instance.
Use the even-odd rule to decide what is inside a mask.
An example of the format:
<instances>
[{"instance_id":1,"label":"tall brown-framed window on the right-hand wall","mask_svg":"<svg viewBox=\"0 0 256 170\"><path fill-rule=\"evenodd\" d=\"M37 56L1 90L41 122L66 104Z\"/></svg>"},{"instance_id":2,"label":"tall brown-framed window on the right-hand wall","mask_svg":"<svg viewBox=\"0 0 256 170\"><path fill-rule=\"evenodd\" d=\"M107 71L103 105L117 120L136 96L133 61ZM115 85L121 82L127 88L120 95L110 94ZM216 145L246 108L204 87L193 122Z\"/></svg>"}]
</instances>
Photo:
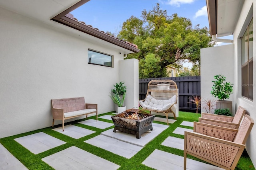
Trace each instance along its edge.
<instances>
[{"instance_id":1,"label":"tall brown-framed window on the right-hand wall","mask_svg":"<svg viewBox=\"0 0 256 170\"><path fill-rule=\"evenodd\" d=\"M242 37L242 96L253 100L253 21Z\"/></svg>"}]
</instances>

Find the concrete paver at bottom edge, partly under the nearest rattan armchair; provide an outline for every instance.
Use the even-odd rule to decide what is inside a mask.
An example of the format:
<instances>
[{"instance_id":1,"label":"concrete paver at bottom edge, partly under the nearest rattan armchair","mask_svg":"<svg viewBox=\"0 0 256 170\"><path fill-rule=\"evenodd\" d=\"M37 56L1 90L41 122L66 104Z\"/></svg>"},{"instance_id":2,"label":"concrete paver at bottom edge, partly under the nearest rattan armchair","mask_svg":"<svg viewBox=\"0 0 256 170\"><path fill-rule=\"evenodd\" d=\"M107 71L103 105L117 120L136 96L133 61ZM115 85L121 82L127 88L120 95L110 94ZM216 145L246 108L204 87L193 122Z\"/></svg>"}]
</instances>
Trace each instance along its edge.
<instances>
[{"instance_id":1,"label":"concrete paver at bottom edge, partly under the nearest rattan armchair","mask_svg":"<svg viewBox=\"0 0 256 170\"><path fill-rule=\"evenodd\" d=\"M156 170L184 170L184 157L154 150L142 164ZM187 170L223 170L222 168L187 158Z\"/></svg>"}]
</instances>

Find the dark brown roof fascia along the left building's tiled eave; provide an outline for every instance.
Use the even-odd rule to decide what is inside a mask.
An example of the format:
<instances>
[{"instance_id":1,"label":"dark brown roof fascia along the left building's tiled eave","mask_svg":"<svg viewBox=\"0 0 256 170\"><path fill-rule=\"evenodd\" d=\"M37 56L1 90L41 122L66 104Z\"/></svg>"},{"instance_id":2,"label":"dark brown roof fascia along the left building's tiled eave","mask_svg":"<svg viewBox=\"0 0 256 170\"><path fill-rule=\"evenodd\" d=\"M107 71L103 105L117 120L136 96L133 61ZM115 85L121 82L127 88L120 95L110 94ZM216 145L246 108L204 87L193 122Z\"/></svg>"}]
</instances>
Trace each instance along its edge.
<instances>
[{"instance_id":1,"label":"dark brown roof fascia along the left building's tiled eave","mask_svg":"<svg viewBox=\"0 0 256 170\"><path fill-rule=\"evenodd\" d=\"M51 20L56 21L58 23L62 23L64 25L67 25L69 27L72 27L74 29L77 29L79 31L82 31L84 33L87 33L89 35L92 35L94 37L97 37L99 39L102 39L104 41L107 41L109 43L112 43L114 45L118 45L119 47L122 47L124 49L128 49L132 52L138 53L140 50L136 47L133 47L132 45L129 45L125 43L124 41L121 41L115 37L112 37L111 35L107 35L106 33L103 33L97 29L94 29L84 23L81 23L79 21L74 20L73 18L69 18L66 16L69 12L72 12L74 9L78 8L79 6L85 4L89 0L81 0L80 2L76 3L74 6L68 8L64 12L58 14L57 16L53 17Z\"/></svg>"}]
</instances>

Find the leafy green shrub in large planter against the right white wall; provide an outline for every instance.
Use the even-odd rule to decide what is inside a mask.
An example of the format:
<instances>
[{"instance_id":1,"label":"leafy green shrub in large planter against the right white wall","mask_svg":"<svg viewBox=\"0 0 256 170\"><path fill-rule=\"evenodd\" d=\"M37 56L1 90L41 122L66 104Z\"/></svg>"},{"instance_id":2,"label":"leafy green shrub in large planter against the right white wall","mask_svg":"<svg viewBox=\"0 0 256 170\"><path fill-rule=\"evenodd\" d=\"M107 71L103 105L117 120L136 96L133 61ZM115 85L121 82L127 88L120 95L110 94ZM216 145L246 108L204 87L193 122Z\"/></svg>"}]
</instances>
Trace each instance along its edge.
<instances>
[{"instance_id":1,"label":"leafy green shrub in large planter against the right white wall","mask_svg":"<svg viewBox=\"0 0 256 170\"><path fill-rule=\"evenodd\" d=\"M230 94L233 93L233 84L230 82L225 82L226 77L222 75L214 76L216 79L213 82L211 94L214 97L217 97L216 100L216 109L226 109L229 108L232 113L232 101L224 100L228 99Z\"/></svg>"}]
</instances>

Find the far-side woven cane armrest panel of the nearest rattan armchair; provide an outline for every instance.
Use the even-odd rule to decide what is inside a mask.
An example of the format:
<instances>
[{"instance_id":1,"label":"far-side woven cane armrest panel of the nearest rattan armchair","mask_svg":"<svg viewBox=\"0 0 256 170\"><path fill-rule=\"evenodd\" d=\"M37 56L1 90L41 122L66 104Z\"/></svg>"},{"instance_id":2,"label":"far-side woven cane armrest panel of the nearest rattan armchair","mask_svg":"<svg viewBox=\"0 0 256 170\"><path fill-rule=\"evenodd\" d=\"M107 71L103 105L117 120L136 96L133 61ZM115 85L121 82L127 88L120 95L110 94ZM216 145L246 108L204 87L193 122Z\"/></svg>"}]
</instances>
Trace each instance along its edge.
<instances>
[{"instance_id":1,"label":"far-side woven cane armrest panel of the nearest rattan armchair","mask_svg":"<svg viewBox=\"0 0 256 170\"><path fill-rule=\"evenodd\" d=\"M216 125L194 122L194 132L227 141L233 141L234 137L238 133L238 129L230 129Z\"/></svg>"}]
</instances>

